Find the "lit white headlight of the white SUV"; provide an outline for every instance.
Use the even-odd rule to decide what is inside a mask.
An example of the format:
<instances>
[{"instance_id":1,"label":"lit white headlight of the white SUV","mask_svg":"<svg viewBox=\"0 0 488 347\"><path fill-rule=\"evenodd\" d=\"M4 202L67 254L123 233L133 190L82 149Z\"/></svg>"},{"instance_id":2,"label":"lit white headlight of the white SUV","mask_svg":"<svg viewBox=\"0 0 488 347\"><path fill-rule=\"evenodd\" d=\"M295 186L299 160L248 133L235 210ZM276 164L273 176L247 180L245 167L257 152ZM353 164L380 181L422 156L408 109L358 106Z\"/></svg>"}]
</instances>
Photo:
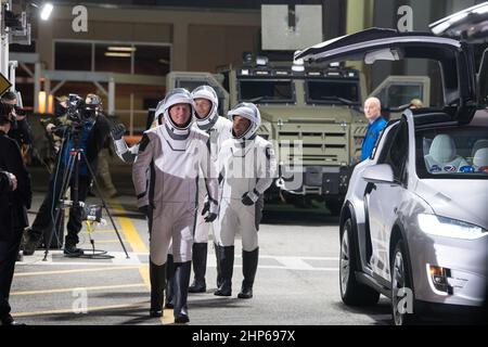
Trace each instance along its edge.
<instances>
[{"instance_id":1,"label":"lit white headlight of the white SUV","mask_svg":"<svg viewBox=\"0 0 488 347\"><path fill-rule=\"evenodd\" d=\"M432 235L475 240L487 235L487 231L478 226L464 221L429 214L419 214L419 227Z\"/></svg>"}]
</instances>

